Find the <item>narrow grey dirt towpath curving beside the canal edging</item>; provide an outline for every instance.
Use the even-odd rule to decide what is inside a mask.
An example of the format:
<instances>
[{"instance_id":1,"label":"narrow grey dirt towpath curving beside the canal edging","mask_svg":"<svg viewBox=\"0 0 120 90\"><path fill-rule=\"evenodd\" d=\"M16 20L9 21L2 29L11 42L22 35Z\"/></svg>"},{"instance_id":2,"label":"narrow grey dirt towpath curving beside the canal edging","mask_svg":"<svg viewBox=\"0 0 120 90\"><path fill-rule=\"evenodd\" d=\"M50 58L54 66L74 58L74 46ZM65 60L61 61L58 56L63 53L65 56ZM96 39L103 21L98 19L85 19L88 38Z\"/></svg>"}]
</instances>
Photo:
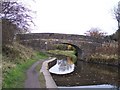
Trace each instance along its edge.
<instances>
[{"instance_id":1,"label":"narrow grey dirt towpath curving beside the canal edging","mask_svg":"<svg viewBox=\"0 0 120 90\"><path fill-rule=\"evenodd\" d=\"M40 88L39 73L35 70L35 67L38 64L41 64L42 66L43 61L44 60L37 61L27 70L27 79L25 81L25 88Z\"/></svg>"}]
</instances>

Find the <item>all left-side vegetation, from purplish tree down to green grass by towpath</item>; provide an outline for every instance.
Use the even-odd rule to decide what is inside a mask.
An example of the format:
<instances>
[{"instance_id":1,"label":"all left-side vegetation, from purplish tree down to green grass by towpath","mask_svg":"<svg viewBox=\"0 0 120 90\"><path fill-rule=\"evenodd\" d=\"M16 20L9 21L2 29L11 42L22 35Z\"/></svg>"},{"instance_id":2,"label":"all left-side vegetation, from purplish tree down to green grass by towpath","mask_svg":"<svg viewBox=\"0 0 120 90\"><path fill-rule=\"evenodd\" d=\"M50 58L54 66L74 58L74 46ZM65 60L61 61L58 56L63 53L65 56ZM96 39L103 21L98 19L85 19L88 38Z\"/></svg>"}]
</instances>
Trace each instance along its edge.
<instances>
[{"instance_id":1,"label":"all left-side vegetation, from purplish tree down to green grass by towpath","mask_svg":"<svg viewBox=\"0 0 120 90\"><path fill-rule=\"evenodd\" d=\"M2 87L22 88L26 78L26 70L37 60L47 58L47 55L15 42L16 34L30 32L30 25L34 24L32 21L34 12L17 0L13 2L3 1L1 5ZM42 75L40 76L42 77Z\"/></svg>"}]
</instances>

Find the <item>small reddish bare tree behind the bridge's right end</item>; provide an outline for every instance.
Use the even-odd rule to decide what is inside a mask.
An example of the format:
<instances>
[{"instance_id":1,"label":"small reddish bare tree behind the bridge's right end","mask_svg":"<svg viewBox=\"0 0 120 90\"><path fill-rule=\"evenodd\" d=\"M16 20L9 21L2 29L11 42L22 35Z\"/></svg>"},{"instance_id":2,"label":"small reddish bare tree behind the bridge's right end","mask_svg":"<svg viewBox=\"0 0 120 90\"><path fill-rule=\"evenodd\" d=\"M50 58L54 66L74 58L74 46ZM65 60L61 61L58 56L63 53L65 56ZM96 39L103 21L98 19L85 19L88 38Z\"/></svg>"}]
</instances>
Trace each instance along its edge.
<instances>
[{"instance_id":1,"label":"small reddish bare tree behind the bridge's right end","mask_svg":"<svg viewBox=\"0 0 120 90\"><path fill-rule=\"evenodd\" d=\"M86 36L91 36L91 37L95 37L95 38L102 38L105 36L106 33L101 32L101 30L99 28L91 28L85 34L86 34Z\"/></svg>"}]
</instances>

